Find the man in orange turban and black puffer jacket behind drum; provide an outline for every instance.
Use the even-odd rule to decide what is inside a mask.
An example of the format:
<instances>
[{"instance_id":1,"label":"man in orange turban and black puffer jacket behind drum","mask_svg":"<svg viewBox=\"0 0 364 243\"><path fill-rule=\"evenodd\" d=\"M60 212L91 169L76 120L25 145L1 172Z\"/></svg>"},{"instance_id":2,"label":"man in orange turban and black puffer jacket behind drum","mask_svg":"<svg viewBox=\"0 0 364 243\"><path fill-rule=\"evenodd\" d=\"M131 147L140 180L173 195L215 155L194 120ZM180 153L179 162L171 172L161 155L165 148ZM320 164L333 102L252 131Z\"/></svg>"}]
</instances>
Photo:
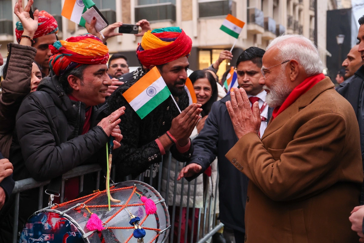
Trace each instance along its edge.
<instances>
[{"instance_id":1,"label":"man in orange turban and black puffer jacket behind drum","mask_svg":"<svg viewBox=\"0 0 364 243\"><path fill-rule=\"evenodd\" d=\"M16 180L50 180L81 164L105 166L109 137L114 137L114 148L122 139L118 124L124 107L111 115L106 113L107 105L98 107L111 85L108 48L95 36L82 35L55 42L50 50L50 67L56 75L43 78L37 91L24 98L16 115L9 156L17 168L13 173ZM84 185L90 187L83 189L91 189L94 178L85 180ZM74 199L78 179L67 180L65 188L64 197ZM24 209L19 219L22 226L21 221L37 210L37 193L27 191L20 197L20 202L27 203L20 206Z\"/></svg>"}]
</instances>

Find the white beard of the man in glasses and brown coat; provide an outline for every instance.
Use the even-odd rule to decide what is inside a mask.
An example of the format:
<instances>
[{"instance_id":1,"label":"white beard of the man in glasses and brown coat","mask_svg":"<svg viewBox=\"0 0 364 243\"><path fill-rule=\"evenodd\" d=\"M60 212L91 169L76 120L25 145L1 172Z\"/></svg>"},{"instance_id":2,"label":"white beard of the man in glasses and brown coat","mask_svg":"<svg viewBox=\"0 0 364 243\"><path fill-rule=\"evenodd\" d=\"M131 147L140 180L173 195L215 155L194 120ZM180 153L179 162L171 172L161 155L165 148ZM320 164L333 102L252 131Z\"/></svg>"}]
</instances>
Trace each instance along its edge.
<instances>
[{"instance_id":1,"label":"white beard of the man in glasses and brown coat","mask_svg":"<svg viewBox=\"0 0 364 243\"><path fill-rule=\"evenodd\" d=\"M278 76L276 82L270 88L266 85L263 86L263 89L269 90L265 97L265 102L267 102L269 107L281 106L292 92L292 88L289 87L285 79L284 76Z\"/></svg>"}]
</instances>

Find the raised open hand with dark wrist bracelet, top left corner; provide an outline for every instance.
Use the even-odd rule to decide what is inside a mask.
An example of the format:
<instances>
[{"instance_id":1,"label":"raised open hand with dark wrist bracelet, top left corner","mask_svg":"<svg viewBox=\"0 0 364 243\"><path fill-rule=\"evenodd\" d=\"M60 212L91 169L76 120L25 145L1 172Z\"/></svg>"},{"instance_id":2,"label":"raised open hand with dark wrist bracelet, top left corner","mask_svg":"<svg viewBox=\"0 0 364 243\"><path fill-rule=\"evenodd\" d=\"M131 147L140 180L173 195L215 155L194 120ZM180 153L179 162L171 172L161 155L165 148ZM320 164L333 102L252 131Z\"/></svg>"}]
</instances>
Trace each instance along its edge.
<instances>
[{"instance_id":1,"label":"raised open hand with dark wrist bracelet, top left corner","mask_svg":"<svg viewBox=\"0 0 364 243\"><path fill-rule=\"evenodd\" d=\"M30 17L29 11L30 7L32 6L34 0L29 0L25 8L23 9L23 3L21 0L15 3L14 13L19 18L21 24L24 28L23 35L27 35L33 39L35 31L38 29L38 17L39 11L38 9L34 11L33 16L34 19Z\"/></svg>"}]
</instances>

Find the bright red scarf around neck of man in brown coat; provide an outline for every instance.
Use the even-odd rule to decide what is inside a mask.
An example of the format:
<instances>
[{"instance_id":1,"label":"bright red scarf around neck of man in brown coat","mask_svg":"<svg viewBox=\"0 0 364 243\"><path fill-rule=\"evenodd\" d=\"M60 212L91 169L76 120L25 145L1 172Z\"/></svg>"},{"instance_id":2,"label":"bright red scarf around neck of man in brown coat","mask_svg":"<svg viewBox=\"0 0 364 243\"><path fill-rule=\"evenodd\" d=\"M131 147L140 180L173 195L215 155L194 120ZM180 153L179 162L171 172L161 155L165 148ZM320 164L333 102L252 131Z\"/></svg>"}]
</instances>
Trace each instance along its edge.
<instances>
[{"instance_id":1,"label":"bright red scarf around neck of man in brown coat","mask_svg":"<svg viewBox=\"0 0 364 243\"><path fill-rule=\"evenodd\" d=\"M277 115L281 114L282 111L287 109L290 105L293 104L302 94L306 93L310 90L314 85L323 80L325 75L323 73L317 74L311 77L306 78L302 83L297 85L292 92L288 95L286 100L283 102L281 106L277 106L273 110L272 118L276 118Z\"/></svg>"}]
</instances>

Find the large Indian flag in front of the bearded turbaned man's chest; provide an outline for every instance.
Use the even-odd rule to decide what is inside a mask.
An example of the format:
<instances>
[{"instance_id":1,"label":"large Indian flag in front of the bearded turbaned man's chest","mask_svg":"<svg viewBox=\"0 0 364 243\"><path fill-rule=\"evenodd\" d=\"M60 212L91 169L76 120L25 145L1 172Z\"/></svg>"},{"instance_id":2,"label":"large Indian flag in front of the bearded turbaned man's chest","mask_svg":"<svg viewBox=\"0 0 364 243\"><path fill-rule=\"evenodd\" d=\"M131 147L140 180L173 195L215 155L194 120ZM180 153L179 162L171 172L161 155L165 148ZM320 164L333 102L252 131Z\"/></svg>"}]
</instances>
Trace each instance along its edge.
<instances>
[{"instance_id":1,"label":"large Indian flag in front of the bearded turbaned man's chest","mask_svg":"<svg viewBox=\"0 0 364 243\"><path fill-rule=\"evenodd\" d=\"M123 97L141 119L165 101L171 92L157 67L153 67L134 85L123 93Z\"/></svg>"}]
</instances>

